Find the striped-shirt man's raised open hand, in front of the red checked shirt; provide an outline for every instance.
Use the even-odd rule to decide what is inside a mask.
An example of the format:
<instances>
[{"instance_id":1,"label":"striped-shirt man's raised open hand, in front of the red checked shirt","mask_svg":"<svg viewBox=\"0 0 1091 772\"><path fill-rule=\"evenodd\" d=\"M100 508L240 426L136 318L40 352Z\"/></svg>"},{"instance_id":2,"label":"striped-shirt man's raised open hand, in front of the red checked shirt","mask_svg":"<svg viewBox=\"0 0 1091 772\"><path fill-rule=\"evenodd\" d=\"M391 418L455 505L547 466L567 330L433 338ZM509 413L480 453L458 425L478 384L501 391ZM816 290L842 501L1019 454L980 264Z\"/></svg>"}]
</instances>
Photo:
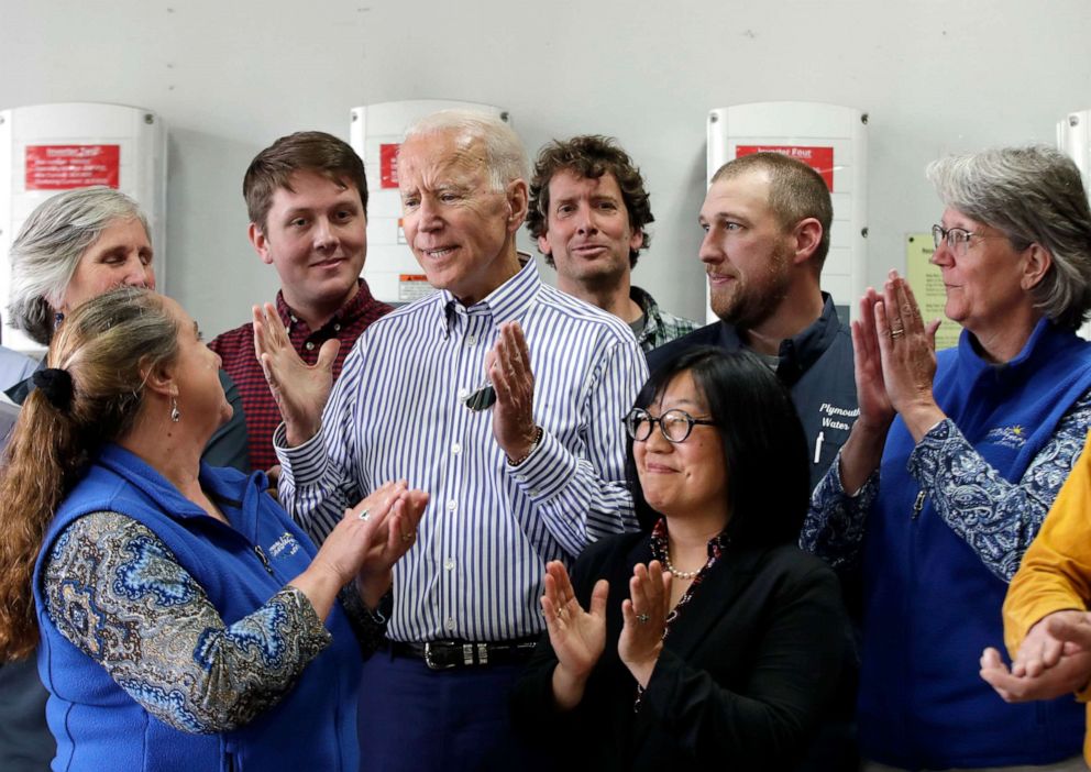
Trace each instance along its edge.
<instances>
[{"instance_id":1,"label":"striped-shirt man's raised open hand, in front of the red checked shirt","mask_svg":"<svg viewBox=\"0 0 1091 772\"><path fill-rule=\"evenodd\" d=\"M333 362L340 348L337 339L326 341L318 361L308 365L293 348L273 304L254 306L254 354L280 409L289 446L318 433L322 409L333 388Z\"/></svg>"}]
</instances>

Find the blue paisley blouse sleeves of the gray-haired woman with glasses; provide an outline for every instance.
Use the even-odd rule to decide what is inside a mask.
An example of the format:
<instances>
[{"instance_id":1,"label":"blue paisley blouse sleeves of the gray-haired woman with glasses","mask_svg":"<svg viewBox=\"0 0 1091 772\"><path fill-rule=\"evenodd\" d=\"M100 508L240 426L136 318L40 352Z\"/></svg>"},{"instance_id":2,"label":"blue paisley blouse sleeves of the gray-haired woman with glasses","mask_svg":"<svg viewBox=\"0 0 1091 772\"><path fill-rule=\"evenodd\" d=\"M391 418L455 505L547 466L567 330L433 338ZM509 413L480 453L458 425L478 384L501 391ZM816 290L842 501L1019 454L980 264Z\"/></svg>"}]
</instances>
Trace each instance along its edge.
<instances>
[{"instance_id":1,"label":"blue paisley blouse sleeves of the gray-haired woman with glasses","mask_svg":"<svg viewBox=\"0 0 1091 772\"><path fill-rule=\"evenodd\" d=\"M1091 393L1065 413L1023 478L1010 483L973 450L952 420L945 419L914 448L908 471L922 490L936 493L929 500L951 530L993 574L1011 582L1072 471L1089 426ZM860 490L847 493L841 486L838 456L812 496L800 547L837 570L855 564L863 543L867 515L878 493L878 470Z\"/></svg>"}]
</instances>

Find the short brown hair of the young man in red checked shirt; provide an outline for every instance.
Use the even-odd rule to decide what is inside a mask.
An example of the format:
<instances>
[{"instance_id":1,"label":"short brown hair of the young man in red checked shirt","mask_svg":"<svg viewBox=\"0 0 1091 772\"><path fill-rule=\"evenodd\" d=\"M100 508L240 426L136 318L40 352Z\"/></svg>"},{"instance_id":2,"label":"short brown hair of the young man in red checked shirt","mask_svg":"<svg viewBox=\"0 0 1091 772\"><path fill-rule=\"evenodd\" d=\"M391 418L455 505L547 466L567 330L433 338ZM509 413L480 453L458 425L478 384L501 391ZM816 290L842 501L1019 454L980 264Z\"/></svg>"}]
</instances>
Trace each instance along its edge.
<instances>
[{"instance_id":1,"label":"short brown hair of the young man in red checked shirt","mask_svg":"<svg viewBox=\"0 0 1091 772\"><path fill-rule=\"evenodd\" d=\"M367 214L367 178L364 162L351 145L323 131L297 131L282 136L250 162L242 180L250 221L262 231L273 206L277 188L291 190L289 180L296 172L315 172L360 191L360 203Z\"/></svg>"}]
</instances>

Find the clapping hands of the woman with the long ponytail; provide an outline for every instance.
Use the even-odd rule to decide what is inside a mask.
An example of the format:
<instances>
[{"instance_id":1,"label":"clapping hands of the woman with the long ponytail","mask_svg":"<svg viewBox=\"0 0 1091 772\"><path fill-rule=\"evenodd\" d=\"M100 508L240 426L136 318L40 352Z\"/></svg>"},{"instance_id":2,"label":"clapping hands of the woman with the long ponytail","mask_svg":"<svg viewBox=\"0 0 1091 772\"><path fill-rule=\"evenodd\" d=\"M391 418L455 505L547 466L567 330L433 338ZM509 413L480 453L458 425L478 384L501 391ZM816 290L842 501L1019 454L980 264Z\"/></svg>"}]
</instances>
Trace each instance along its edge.
<instances>
[{"instance_id":1,"label":"clapping hands of the woman with the long ponytail","mask_svg":"<svg viewBox=\"0 0 1091 772\"><path fill-rule=\"evenodd\" d=\"M388 482L360 504L345 509L342 522L382 518L375 538L356 572L356 589L368 608L378 606L390 588L394 564L417 543L417 528L428 505L428 494L410 489L404 479Z\"/></svg>"}]
</instances>

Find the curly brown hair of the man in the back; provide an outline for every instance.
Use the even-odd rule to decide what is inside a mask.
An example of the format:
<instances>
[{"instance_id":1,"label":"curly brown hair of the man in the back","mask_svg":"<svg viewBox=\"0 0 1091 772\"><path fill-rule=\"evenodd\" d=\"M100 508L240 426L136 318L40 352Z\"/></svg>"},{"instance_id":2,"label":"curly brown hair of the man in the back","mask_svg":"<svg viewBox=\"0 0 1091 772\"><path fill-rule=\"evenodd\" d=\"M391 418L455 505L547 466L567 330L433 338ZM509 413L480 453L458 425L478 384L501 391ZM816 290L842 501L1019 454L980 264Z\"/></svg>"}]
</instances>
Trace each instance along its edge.
<instances>
[{"instance_id":1,"label":"curly brown hair of the man in the back","mask_svg":"<svg viewBox=\"0 0 1091 772\"><path fill-rule=\"evenodd\" d=\"M599 134L573 136L566 141L553 140L542 147L535 163L527 211L527 228L535 239L541 238L549 230L549 183L558 172L572 172L585 179L598 179L607 173L614 175L629 214L629 227L644 236L638 249L629 250L629 267L636 267L640 250L651 244L651 235L646 227L654 222L655 218L651 213L644 179L629 154L621 150L617 140ZM552 255L546 255L546 262L553 265Z\"/></svg>"}]
</instances>

